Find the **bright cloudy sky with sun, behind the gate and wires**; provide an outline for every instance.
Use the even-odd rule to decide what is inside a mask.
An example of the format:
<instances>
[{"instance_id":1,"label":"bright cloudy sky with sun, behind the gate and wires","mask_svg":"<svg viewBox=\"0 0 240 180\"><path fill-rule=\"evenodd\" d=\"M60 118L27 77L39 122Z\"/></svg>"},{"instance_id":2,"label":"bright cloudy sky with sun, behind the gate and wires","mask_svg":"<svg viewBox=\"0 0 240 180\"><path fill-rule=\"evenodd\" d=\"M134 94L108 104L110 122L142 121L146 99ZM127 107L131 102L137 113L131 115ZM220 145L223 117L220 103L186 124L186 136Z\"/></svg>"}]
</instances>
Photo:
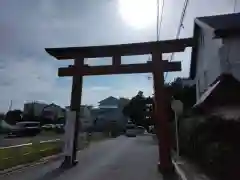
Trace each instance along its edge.
<instances>
[{"instance_id":1,"label":"bright cloudy sky with sun, behind the gate and wires","mask_svg":"<svg viewBox=\"0 0 240 180\"><path fill-rule=\"evenodd\" d=\"M232 13L235 0L190 0L180 37L192 37L195 17ZM147 2L147 3L146 3ZM161 3L161 0L160 0ZM165 0L160 40L174 39L184 0ZM236 12L240 0L236 0ZM71 78L57 76L57 61L44 48L123 44L156 40L156 0L0 0L0 111L22 109L24 102L67 106ZM176 53L182 71L166 81L188 77L191 48ZM165 58L169 55L164 55ZM145 56L123 57L123 63L144 63ZM109 58L86 59L89 65ZM84 77L82 104L97 105L108 97L152 94L150 74Z\"/></svg>"}]
</instances>

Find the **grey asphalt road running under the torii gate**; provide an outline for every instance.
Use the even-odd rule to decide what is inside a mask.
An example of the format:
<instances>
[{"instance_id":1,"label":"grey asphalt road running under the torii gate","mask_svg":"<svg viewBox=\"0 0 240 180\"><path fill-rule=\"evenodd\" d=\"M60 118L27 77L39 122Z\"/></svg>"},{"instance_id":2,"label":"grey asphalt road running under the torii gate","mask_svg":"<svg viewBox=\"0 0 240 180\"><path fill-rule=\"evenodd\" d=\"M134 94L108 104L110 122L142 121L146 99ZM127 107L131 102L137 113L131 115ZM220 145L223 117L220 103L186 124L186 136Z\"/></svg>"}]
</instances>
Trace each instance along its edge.
<instances>
[{"instance_id":1,"label":"grey asphalt road running under the torii gate","mask_svg":"<svg viewBox=\"0 0 240 180\"><path fill-rule=\"evenodd\" d=\"M136 138L120 136L93 143L78 153L76 167L62 171L61 161L37 165L5 175L4 180L161 180L156 165L157 145L148 135Z\"/></svg>"}]
</instances>

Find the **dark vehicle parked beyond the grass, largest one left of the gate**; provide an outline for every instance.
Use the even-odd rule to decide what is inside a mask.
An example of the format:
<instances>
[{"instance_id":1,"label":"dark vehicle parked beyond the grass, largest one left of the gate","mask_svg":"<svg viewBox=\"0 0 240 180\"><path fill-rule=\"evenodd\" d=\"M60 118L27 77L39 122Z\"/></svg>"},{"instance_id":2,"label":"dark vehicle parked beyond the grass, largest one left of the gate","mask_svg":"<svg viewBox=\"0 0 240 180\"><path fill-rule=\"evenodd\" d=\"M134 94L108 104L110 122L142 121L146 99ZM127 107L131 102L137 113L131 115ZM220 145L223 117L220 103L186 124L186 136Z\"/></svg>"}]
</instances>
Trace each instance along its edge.
<instances>
[{"instance_id":1,"label":"dark vehicle parked beyond the grass, largest one left of the gate","mask_svg":"<svg viewBox=\"0 0 240 180\"><path fill-rule=\"evenodd\" d=\"M16 123L8 136L35 136L41 132L40 123L32 121L24 121Z\"/></svg>"}]
</instances>

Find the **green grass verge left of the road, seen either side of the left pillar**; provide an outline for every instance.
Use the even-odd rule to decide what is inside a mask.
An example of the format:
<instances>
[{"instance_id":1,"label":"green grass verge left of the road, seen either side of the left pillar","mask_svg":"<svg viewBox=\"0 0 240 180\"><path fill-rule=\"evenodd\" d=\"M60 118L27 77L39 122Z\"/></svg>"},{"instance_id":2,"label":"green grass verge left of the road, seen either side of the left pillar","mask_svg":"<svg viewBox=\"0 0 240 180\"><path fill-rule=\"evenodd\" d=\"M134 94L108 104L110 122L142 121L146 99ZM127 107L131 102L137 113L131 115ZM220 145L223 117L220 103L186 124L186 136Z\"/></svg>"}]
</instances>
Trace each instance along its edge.
<instances>
[{"instance_id":1,"label":"green grass verge left of the road, seen either side of the left pillar","mask_svg":"<svg viewBox=\"0 0 240 180\"><path fill-rule=\"evenodd\" d=\"M45 132L52 135L53 132ZM84 136L79 136L78 150L89 146L90 143L99 142L107 137L103 134L94 134L88 140ZM43 157L51 156L62 152L63 141L53 140L39 142L33 140L24 145L0 148L0 170L8 169L17 165L38 161Z\"/></svg>"}]
</instances>

